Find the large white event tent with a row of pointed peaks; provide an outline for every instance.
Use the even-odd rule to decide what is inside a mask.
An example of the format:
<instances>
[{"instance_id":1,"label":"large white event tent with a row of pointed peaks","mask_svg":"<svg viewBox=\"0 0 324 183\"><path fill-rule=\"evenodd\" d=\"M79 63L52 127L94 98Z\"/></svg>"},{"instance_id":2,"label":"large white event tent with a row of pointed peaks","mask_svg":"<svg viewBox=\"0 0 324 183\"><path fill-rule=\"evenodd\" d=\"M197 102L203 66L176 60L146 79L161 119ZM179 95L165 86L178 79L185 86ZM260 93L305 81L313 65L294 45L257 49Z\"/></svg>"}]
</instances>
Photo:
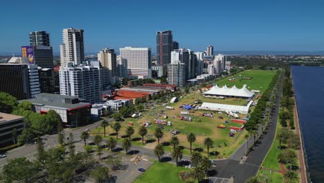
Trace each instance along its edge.
<instances>
[{"instance_id":1,"label":"large white event tent with a row of pointed peaks","mask_svg":"<svg viewBox=\"0 0 324 183\"><path fill-rule=\"evenodd\" d=\"M207 92L204 92L204 96L229 96L240 98L252 98L254 94L254 92L246 89L246 85L244 85L241 89L238 89L235 85L231 88L228 88L226 85L224 85L223 87L214 85Z\"/></svg>"}]
</instances>

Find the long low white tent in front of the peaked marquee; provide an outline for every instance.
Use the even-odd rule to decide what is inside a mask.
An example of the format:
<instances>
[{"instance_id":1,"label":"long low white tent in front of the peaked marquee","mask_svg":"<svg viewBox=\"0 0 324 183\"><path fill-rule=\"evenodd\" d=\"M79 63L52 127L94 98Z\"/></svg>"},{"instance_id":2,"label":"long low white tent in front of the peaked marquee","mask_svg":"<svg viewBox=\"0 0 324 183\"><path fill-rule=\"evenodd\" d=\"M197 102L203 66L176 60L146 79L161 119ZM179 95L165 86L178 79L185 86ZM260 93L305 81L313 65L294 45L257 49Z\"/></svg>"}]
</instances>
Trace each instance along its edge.
<instances>
[{"instance_id":1,"label":"long low white tent in front of the peaked marquee","mask_svg":"<svg viewBox=\"0 0 324 183\"><path fill-rule=\"evenodd\" d=\"M212 111L228 111L228 112L239 112L241 114L248 114L249 108L253 101L250 101L248 105L228 105L221 103L202 103L199 110L212 110Z\"/></svg>"}]
</instances>

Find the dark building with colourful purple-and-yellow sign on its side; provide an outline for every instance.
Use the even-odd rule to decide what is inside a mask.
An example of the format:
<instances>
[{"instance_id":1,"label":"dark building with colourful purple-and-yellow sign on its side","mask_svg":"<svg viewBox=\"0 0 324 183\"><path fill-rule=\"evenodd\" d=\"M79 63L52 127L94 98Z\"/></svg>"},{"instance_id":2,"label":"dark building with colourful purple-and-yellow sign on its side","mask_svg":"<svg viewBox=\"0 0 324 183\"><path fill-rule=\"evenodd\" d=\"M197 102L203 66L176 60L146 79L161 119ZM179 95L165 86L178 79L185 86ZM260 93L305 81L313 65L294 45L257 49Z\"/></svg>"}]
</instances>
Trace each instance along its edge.
<instances>
[{"instance_id":1,"label":"dark building with colourful purple-and-yellow sign on its side","mask_svg":"<svg viewBox=\"0 0 324 183\"><path fill-rule=\"evenodd\" d=\"M37 64L38 67L53 69L52 46L21 46L23 58L28 58L28 64Z\"/></svg>"}]
</instances>

